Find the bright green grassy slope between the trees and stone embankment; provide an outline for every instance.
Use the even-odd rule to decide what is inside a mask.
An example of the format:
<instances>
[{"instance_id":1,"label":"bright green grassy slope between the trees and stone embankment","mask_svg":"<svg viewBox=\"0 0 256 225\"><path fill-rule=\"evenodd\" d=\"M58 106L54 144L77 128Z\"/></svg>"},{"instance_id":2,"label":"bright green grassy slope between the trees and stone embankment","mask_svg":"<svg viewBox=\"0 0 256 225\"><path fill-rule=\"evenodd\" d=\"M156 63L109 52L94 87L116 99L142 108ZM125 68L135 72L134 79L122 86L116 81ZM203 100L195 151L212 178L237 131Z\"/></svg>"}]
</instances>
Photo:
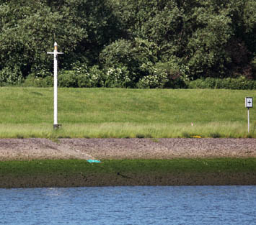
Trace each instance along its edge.
<instances>
[{"instance_id":1,"label":"bright green grassy slope between the trees and stone embankment","mask_svg":"<svg viewBox=\"0 0 256 225\"><path fill-rule=\"evenodd\" d=\"M53 131L53 88L0 88L0 138L256 137L247 134L244 97L256 91L59 88ZM193 126L191 124L193 123Z\"/></svg>"}]
</instances>

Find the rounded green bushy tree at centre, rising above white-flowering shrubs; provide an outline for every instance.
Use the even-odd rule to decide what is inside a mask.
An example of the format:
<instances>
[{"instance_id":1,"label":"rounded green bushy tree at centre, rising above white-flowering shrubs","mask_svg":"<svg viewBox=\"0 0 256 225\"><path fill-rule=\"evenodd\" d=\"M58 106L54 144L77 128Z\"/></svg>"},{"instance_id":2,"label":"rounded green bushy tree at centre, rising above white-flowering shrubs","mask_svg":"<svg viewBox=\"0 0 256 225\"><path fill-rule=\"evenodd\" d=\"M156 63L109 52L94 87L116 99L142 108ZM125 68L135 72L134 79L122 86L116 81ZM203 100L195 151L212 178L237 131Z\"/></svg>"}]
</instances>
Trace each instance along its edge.
<instances>
[{"instance_id":1,"label":"rounded green bushy tree at centre, rising above white-flowering shrubs","mask_svg":"<svg viewBox=\"0 0 256 225\"><path fill-rule=\"evenodd\" d=\"M157 62L159 47L149 40L134 38L133 40L118 40L105 47L100 53L100 62L103 68L123 70L131 81L129 87L136 87L136 83L145 75L149 75L148 63ZM123 72L122 72L123 73ZM124 78L124 74L122 75ZM125 79L125 78L124 78ZM126 83L127 85L127 83Z\"/></svg>"}]
</instances>

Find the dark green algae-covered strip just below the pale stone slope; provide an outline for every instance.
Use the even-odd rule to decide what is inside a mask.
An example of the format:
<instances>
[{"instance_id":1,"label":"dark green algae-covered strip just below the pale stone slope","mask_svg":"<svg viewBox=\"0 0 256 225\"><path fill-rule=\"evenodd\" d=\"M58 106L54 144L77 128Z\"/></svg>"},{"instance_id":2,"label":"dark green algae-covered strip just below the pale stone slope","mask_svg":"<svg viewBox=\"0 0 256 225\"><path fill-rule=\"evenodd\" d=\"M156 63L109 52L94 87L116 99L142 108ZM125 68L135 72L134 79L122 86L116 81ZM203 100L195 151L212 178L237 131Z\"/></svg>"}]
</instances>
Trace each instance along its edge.
<instances>
[{"instance_id":1,"label":"dark green algae-covered strip just below the pale stone slope","mask_svg":"<svg viewBox=\"0 0 256 225\"><path fill-rule=\"evenodd\" d=\"M47 175L60 173L256 173L255 158L172 159L172 160L30 160L0 161L0 175Z\"/></svg>"}]
</instances>

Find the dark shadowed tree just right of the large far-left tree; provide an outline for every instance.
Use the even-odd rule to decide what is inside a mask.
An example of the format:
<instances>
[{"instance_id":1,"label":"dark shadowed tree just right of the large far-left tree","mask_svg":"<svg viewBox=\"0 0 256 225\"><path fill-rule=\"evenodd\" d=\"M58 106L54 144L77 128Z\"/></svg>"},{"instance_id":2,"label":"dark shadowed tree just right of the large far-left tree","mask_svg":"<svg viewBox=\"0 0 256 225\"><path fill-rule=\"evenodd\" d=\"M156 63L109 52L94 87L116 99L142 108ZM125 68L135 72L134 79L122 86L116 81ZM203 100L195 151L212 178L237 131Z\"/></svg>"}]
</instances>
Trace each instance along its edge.
<instances>
[{"instance_id":1,"label":"dark shadowed tree just right of the large far-left tree","mask_svg":"<svg viewBox=\"0 0 256 225\"><path fill-rule=\"evenodd\" d=\"M85 35L77 40L74 50L66 58L66 66L79 61L89 65L99 62L101 50L120 37L120 25L109 0L51 1L51 9L69 18Z\"/></svg>"}]
</instances>

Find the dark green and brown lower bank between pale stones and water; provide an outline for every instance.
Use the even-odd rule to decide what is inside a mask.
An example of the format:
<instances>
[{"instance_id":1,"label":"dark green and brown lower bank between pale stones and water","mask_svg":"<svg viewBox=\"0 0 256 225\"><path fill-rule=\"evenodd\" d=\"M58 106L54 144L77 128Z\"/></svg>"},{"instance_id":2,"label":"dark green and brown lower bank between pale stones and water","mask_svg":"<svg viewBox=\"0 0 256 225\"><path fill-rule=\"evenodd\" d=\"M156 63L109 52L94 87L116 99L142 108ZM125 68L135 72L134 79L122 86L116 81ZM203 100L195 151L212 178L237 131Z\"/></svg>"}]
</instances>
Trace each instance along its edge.
<instances>
[{"instance_id":1,"label":"dark green and brown lower bank between pale stones and water","mask_svg":"<svg viewBox=\"0 0 256 225\"><path fill-rule=\"evenodd\" d=\"M256 185L256 159L4 161L0 178L0 188Z\"/></svg>"}]
</instances>

